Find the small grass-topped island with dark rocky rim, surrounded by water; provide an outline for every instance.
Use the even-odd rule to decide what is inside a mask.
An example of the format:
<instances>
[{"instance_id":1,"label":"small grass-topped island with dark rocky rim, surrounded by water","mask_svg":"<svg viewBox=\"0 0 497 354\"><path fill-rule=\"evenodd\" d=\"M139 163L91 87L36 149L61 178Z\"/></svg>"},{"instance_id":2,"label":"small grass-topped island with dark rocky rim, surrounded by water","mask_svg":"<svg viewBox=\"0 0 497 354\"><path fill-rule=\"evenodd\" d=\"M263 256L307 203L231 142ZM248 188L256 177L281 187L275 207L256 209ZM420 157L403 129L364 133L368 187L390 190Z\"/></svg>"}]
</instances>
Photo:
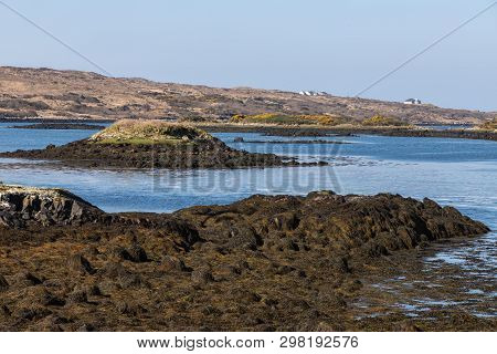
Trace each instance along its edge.
<instances>
[{"instance_id":1,"label":"small grass-topped island with dark rocky rim, surrounded by water","mask_svg":"<svg viewBox=\"0 0 497 354\"><path fill-rule=\"evenodd\" d=\"M274 154L229 147L197 127L162 121L119 121L88 139L1 157L59 160L78 167L239 168L299 165Z\"/></svg>"}]
</instances>

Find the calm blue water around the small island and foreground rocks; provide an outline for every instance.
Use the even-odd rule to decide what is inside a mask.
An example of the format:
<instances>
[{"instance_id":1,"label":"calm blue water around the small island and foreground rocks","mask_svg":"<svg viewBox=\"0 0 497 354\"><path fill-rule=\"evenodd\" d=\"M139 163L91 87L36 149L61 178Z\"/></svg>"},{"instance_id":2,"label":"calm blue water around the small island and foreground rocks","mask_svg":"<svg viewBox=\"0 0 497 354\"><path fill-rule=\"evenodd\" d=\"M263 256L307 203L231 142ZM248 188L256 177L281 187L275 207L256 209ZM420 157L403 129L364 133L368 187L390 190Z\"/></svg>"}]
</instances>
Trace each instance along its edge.
<instances>
[{"instance_id":1,"label":"calm blue water around the small island and foreground rocks","mask_svg":"<svg viewBox=\"0 0 497 354\"><path fill-rule=\"evenodd\" d=\"M92 131L10 129L0 123L0 150L42 148L85 138ZM479 277L491 287L484 290L462 287L474 299L490 301L495 314L497 267L497 143L452 138L384 136L298 137L298 140L328 139L350 144L250 144L244 140L289 140L256 133L214 134L234 148L297 156L302 160L327 160L322 167L256 168L235 170L84 170L15 159L0 159L0 180L6 184L63 187L106 211L173 211L193 205L229 204L253 194L305 195L332 189L340 194L394 192L429 197L451 205L488 225L488 235L441 248L426 257L426 272L457 267L454 277ZM399 280L401 283L405 281ZM436 285L433 279L427 280ZM391 284L390 284L391 285ZM381 287L390 287L387 283ZM399 308L451 306L440 299L412 299ZM414 306L414 308L413 308ZM411 309L411 310L410 310Z\"/></svg>"}]
</instances>

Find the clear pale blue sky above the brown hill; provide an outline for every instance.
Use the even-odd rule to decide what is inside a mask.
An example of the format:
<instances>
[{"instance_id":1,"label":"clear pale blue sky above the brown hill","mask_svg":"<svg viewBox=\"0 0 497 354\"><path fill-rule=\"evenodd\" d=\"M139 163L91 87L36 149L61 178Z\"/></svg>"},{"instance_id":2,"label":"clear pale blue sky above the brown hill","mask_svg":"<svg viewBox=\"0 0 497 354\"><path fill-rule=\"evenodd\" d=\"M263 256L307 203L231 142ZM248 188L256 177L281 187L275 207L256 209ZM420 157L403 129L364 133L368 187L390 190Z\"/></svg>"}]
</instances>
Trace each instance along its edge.
<instances>
[{"instance_id":1,"label":"clear pale blue sky above the brown hill","mask_svg":"<svg viewBox=\"0 0 497 354\"><path fill-rule=\"evenodd\" d=\"M0 0L114 76L353 96L494 0ZM0 4L0 65L96 71ZM497 6L362 95L497 111Z\"/></svg>"}]
</instances>

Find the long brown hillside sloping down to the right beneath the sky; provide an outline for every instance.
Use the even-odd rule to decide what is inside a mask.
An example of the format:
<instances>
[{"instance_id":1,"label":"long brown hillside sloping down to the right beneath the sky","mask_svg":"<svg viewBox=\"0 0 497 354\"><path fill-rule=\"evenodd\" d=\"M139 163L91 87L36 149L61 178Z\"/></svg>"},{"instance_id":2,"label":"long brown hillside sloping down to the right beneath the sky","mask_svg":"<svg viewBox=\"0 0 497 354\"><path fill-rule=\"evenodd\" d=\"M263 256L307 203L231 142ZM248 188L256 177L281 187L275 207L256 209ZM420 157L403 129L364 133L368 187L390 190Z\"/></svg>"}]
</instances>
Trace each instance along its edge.
<instances>
[{"instance_id":1,"label":"long brown hillside sloping down to the right beneath the sky","mask_svg":"<svg viewBox=\"0 0 497 354\"><path fill-rule=\"evenodd\" d=\"M248 87L214 88L115 79L92 72L0 66L0 117L179 118L216 121L235 114L330 114L361 121L373 115L409 123L480 124L495 113L405 105L332 95Z\"/></svg>"}]
</instances>

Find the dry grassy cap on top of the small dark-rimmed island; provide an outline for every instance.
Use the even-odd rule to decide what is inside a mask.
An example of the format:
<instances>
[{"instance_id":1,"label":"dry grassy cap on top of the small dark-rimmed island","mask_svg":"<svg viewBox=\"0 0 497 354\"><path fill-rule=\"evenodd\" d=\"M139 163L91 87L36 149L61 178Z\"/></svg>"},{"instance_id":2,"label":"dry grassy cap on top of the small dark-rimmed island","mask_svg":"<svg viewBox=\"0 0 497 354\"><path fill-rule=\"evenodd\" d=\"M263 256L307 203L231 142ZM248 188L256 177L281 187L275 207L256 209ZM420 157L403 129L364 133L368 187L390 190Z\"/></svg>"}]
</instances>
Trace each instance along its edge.
<instances>
[{"instance_id":1,"label":"dry grassy cap on top of the small dark-rimmed island","mask_svg":"<svg viewBox=\"0 0 497 354\"><path fill-rule=\"evenodd\" d=\"M98 144L188 144L210 140L213 137L197 127L162 121L123 119L93 135L89 140Z\"/></svg>"}]
</instances>

